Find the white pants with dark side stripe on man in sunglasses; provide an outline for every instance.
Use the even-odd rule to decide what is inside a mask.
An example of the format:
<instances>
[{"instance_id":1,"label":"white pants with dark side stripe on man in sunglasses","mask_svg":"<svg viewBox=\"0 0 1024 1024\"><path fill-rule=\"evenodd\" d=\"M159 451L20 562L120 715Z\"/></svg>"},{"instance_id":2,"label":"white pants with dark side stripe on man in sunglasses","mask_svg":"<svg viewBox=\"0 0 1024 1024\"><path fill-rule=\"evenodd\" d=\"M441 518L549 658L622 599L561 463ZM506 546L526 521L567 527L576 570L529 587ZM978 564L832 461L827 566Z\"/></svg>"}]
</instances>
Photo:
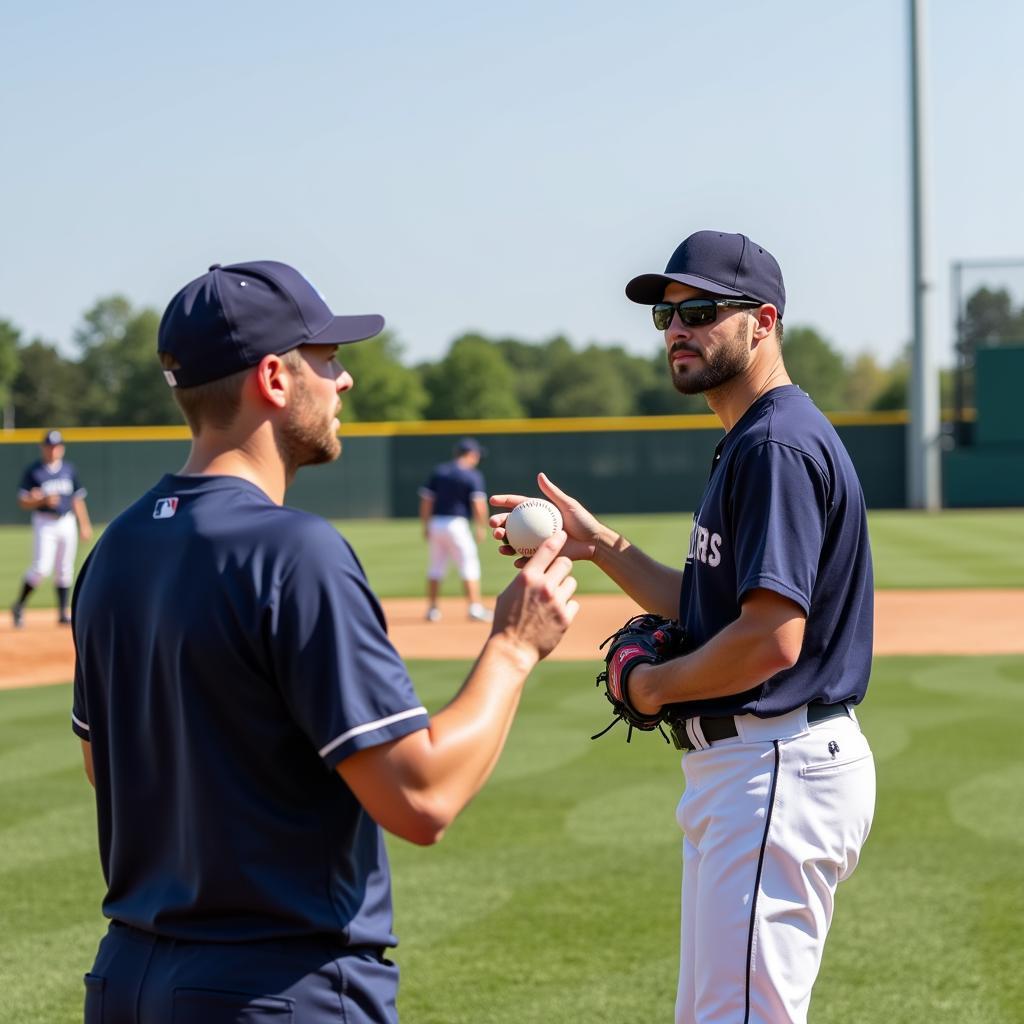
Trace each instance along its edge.
<instances>
[{"instance_id":1,"label":"white pants with dark side stripe on man in sunglasses","mask_svg":"<svg viewBox=\"0 0 1024 1024\"><path fill-rule=\"evenodd\" d=\"M677 1024L802 1024L836 887L870 828L867 740L835 718L776 741L719 741L683 769Z\"/></svg>"}]
</instances>

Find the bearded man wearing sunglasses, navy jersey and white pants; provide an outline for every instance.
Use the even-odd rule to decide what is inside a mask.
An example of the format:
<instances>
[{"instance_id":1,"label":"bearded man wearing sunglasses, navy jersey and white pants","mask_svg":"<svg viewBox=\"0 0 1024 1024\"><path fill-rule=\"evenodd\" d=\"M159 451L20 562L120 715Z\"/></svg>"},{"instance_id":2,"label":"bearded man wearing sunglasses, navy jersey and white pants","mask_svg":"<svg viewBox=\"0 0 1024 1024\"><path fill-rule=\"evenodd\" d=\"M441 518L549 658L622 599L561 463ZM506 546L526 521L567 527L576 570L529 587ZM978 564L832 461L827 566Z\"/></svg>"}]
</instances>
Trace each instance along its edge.
<instances>
[{"instance_id":1,"label":"bearded man wearing sunglasses, navy jersey and white pants","mask_svg":"<svg viewBox=\"0 0 1024 1024\"><path fill-rule=\"evenodd\" d=\"M698 231L626 294L652 307L676 389L703 393L726 431L685 566L654 561L539 481L562 512L562 554L688 635L690 653L626 681L637 711L671 706L685 752L676 1021L802 1022L874 807L854 711L871 663L863 496L835 429L785 372L785 289L766 249ZM498 539L506 515L492 517Z\"/></svg>"}]
</instances>

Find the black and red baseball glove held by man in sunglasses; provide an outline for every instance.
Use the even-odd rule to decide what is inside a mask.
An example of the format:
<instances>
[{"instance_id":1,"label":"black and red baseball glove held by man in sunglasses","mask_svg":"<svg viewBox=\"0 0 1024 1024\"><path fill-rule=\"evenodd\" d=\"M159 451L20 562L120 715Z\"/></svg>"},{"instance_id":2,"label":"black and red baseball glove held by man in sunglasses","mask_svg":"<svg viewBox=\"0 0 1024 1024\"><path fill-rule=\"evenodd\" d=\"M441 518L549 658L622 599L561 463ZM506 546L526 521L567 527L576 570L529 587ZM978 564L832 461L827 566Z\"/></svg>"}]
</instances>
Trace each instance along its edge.
<instances>
[{"instance_id":1,"label":"black and red baseball glove held by man in sunglasses","mask_svg":"<svg viewBox=\"0 0 1024 1024\"><path fill-rule=\"evenodd\" d=\"M599 672L596 685L604 684L604 695L608 698L615 717L610 724L591 736L597 739L612 728L620 719L629 726L626 742L633 738L633 730L651 732L657 729L662 737L669 737L662 728L664 713L643 715L630 703L630 673L638 665L659 665L683 653L686 634L679 623L660 615L634 615L625 626L612 633L599 649L607 645L604 655L604 671Z\"/></svg>"}]
</instances>

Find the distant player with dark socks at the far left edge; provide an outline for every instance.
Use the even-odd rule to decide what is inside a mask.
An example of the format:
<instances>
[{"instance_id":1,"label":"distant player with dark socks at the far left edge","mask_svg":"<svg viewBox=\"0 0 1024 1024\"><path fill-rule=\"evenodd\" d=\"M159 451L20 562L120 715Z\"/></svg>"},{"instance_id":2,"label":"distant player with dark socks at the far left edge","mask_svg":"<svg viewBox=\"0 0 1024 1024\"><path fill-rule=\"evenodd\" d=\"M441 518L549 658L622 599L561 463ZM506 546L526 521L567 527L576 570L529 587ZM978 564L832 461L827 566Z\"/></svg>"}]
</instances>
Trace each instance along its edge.
<instances>
[{"instance_id":1,"label":"distant player with dark socks at the far left edge","mask_svg":"<svg viewBox=\"0 0 1024 1024\"><path fill-rule=\"evenodd\" d=\"M92 537L85 505L86 489L70 462L59 430L47 430L40 446L42 457L27 467L17 488L17 504L32 513L32 564L22 582L22 592L11 607L14 626L25 622L29 595L51 572L57 594L57 622L71 624L68 598L75 575L79 538Z\"/></svg>"}]
</instances>

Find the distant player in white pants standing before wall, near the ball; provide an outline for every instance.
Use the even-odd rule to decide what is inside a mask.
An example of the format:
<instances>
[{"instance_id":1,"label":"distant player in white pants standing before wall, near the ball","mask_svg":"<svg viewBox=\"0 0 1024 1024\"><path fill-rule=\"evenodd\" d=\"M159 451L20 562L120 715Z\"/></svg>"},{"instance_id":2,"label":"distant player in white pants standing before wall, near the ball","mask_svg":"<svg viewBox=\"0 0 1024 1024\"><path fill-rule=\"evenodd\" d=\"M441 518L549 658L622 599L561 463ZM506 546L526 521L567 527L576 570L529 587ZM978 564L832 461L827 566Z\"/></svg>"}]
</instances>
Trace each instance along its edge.
<instances>
[{"instance_id":1,"label":"distant player in white pants standing before wall, near the ball","mask_svg":"<svg viewBox=\"0 0 1024 1024\"><path fill-rule=\"evenodd\" d=\"M441 617L437 596L449 563L454 562L469 601L469 617L488 623L490 612L480 603L480 555L476 550L476 541L483 540L487 525L487 485L477 468L483 449L474 438L463 437L454 454L455 459L434 467L419 490L420 520L429 552L427 621L436 623Z\"/></svg>"}]
</instances>

